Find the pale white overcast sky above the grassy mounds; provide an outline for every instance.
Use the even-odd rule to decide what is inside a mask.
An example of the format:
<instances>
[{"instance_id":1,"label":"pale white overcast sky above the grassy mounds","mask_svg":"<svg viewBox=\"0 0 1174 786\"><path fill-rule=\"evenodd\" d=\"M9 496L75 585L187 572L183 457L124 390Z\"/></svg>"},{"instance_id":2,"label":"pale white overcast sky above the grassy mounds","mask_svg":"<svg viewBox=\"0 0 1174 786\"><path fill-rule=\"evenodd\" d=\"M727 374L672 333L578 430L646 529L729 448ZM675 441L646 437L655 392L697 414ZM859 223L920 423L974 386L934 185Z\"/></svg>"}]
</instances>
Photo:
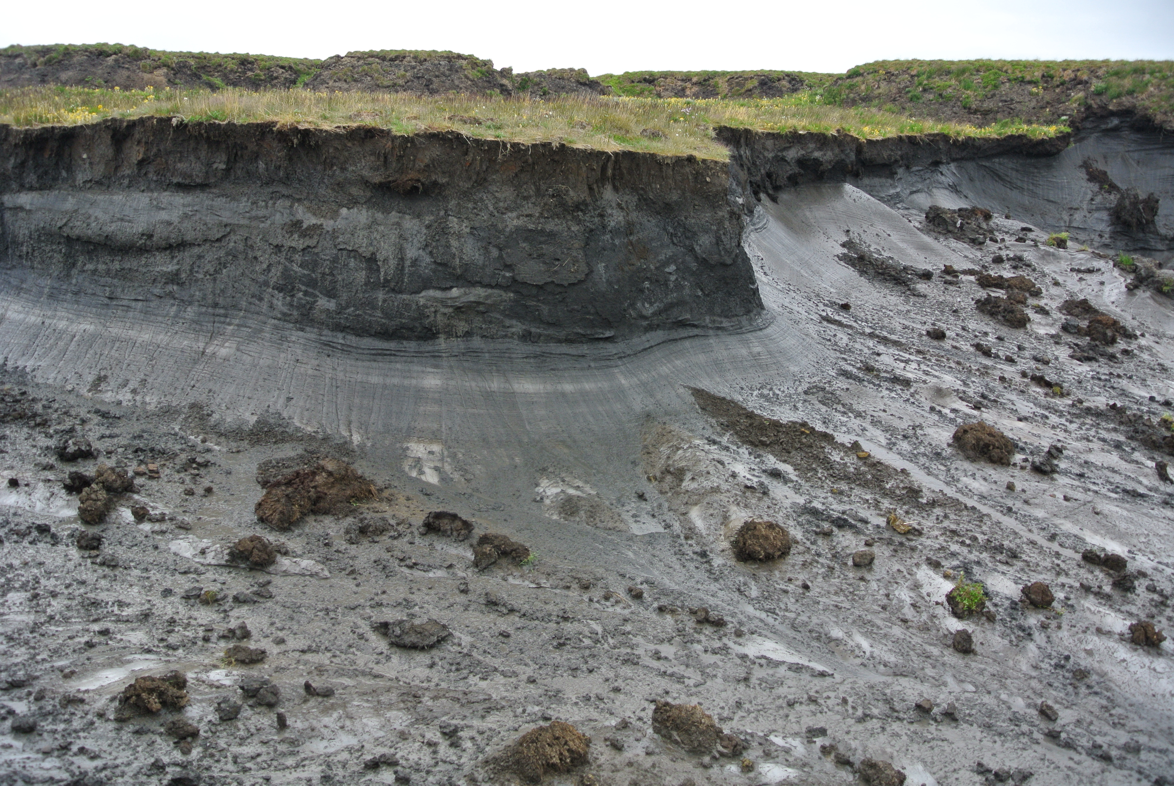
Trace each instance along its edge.
<instances>
[{"instance_id":1,"label":"pale white overcast sky above the grassy mounds","mask_svg":"<svg viewBox=\"0 0 1174 786\"><path fill-rule=\"evenodd\" d=\"M8 43L328 58L452 49L515 70L844 72L872 60L1174 59L1174 0L9 2Z\"/></svg>"}]
</instances>

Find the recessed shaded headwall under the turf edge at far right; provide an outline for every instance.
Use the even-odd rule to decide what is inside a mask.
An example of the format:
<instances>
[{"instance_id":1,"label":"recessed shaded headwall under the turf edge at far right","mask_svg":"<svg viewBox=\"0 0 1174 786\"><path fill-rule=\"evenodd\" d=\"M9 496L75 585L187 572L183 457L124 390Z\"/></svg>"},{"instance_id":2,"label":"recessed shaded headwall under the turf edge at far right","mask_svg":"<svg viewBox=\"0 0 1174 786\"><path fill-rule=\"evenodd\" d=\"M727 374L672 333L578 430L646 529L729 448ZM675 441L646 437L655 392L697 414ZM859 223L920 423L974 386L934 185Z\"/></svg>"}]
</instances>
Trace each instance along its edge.
<instances>
[{"instance_id":1,"label":"recessed shaded headwall under the turf edge at far right","mask_svg":"<svg viewBox=\"0 0 1174 786\"><path fill-rule=\"evenodd\" d=\"M731 150L734 187L747 204L807 183L846 182L891 206L979 206L1089 246L1174 258L1174 141L1120 119L1040 140L861 140L742 128L717 135ZM1118 204L1129 192L1158 200L1148 226L1122 222Z\"/></svg>"}]
</instances>

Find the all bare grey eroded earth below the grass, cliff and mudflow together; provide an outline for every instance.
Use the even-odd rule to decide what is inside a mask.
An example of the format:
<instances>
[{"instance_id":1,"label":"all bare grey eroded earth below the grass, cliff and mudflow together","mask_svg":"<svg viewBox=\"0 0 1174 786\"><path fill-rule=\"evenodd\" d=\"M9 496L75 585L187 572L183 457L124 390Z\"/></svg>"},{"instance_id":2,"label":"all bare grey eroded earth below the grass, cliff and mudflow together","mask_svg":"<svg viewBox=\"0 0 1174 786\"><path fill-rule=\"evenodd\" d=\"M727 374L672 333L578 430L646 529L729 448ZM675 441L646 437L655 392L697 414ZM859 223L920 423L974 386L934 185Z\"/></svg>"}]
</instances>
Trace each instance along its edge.
<instances>
[{"instance_id":1,"label":"all bare grey eroded earth below the grass, cliff and mudflow together","mask_svg":"<svg viewBox=\"0 0 1174 786\"><path fill-rule=\"evenodd\" d=\"M716 139L0 127L0 782L1174 782L1169 135Z\"/></svg>"}]
</instances>

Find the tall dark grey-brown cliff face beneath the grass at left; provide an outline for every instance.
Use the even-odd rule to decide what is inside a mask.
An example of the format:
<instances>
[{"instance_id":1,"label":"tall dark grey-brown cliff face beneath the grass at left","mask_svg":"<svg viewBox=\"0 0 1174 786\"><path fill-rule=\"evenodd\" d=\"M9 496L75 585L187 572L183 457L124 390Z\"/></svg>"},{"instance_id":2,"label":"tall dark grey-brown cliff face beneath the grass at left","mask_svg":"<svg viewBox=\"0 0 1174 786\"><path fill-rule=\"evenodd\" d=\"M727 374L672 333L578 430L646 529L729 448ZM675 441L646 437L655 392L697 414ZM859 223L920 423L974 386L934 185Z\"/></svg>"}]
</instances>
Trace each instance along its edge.
<instances>
[{"instance_id":1,"label":"tall dark grey-brown cliff face beneath the grass at left","mask_svg":"<svg viewBox=\"0 0 1174 786\"><path fill-rule=\"evenodd\" d=\"M728 167L456 133L0 128L13 285L385 338L729 328L762 303Z\"/></svg>"}]
</instances>

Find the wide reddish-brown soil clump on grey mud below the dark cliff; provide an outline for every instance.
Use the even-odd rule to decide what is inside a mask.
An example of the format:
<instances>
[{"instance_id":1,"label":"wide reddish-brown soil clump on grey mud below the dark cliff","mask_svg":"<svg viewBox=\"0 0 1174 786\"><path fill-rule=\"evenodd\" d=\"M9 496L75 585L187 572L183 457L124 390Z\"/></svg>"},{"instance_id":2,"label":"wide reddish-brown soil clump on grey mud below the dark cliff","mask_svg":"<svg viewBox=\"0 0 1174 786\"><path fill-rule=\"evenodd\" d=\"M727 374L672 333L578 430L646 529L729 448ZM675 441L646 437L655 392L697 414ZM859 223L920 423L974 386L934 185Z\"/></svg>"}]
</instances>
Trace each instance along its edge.
<instances>
[{"instance_id":1,"label":"wide reddish-brown soil clump on grey mud below the dark cliff","mask_svg":"<svg viewBox=\"0 0 1174 786\"><path fill-rule=\"evenodd\" d=\"M306 513L339 513L351 502L373 499L376 493L375 485L350 464L323 458L269 483L255 512L275 530L288 530Z\"/></svg>"}]
</instances>

